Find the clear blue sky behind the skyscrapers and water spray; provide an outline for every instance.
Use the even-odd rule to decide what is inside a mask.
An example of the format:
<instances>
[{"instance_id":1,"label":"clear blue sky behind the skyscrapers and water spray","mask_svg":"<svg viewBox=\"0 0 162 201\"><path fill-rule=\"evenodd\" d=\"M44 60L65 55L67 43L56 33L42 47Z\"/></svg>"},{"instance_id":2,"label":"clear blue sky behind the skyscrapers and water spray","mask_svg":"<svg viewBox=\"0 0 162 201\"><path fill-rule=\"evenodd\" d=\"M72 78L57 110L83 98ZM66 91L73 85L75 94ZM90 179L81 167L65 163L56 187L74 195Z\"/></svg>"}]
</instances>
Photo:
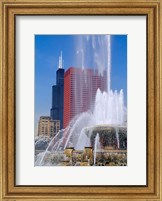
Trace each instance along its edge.
<instances>
[{"instance_id":1,"label":"clear blue sky behind the skyscrapers and water spray","mask_svg":"<svg viewBox=\"0 0 162 201\"><path fill-rule=\"evenodd\" d=\"M97 68L93 61L95 54L91 47L92 44L90 41L86 42L85 37L86 35L35 36L35 127L39 116L50 115L52 85L55 84L61 51L65 70L70 66L81 67L83 55L78 53L78 49L85 51L84 65L88 68ZM100 52L102 53L102 47L100 47ZM111 35L111 89L118 91L123 89L126 105L127 35Z\"/></svg>"}]
</instances>

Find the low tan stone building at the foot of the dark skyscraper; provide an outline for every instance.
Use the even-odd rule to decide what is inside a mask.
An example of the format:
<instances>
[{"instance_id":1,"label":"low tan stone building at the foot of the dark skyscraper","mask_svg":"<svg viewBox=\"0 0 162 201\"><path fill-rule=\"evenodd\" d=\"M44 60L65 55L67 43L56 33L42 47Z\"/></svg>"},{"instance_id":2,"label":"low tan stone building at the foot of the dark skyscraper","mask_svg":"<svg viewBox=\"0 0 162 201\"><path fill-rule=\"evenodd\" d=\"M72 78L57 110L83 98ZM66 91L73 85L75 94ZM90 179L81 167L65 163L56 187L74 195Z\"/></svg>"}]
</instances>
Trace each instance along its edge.
<instances>
[{"instance_id":1,"label":"low tan stone building at the foot of the dark skyscraper","mask_svg":"<svg viewBox=\"0 0 162 201\"><path fill-rule=\"evenodd\" d=\"M41 116L38 122L38 136L55 136L60 130L60 121L49 116Z\"/></svg>"}]
</instances>

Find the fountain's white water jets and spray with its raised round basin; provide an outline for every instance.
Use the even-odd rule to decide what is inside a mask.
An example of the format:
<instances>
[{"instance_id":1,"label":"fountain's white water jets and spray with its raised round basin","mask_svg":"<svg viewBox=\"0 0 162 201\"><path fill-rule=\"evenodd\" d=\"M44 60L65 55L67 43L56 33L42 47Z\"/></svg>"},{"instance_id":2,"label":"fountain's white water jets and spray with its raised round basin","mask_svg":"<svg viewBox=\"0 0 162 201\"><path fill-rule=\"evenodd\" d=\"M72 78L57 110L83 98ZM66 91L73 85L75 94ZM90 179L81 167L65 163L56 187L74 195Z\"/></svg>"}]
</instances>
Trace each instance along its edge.
<instances>
[{"instance_id":1,"label":"fountain's white water jets and spray with its raised round basin","mask_svg":"<svg viewBox=\"0 0 162 201\"><path fill-rule=\"evenodd\" d=\"M123 90L121 89L119 93L111 90L111 37L110 35L102 35L90 38L93 50L92 57L98 68L98 73L102 75L105 70L104 66L107 68L107 92L97 90L93 109L75 116L67 128L60 131L63 132L61 139L56 140L58 134L51 139L44 153L38 157L39 163L36 162L37 165L43 165L47 153L63 154L68 147L82 151L85 147L93 147L95 165L97 150L101 149L99 141L101 141L100 146L104 150L126 150L127 148L126 108ZM90 38L86 37L86 40L90 41ZM84 44L85 41L82 41L81 47L77 51L77 54L82 52L83 70L86 66L87 54Z\"/></svg>"}]
</instances>

